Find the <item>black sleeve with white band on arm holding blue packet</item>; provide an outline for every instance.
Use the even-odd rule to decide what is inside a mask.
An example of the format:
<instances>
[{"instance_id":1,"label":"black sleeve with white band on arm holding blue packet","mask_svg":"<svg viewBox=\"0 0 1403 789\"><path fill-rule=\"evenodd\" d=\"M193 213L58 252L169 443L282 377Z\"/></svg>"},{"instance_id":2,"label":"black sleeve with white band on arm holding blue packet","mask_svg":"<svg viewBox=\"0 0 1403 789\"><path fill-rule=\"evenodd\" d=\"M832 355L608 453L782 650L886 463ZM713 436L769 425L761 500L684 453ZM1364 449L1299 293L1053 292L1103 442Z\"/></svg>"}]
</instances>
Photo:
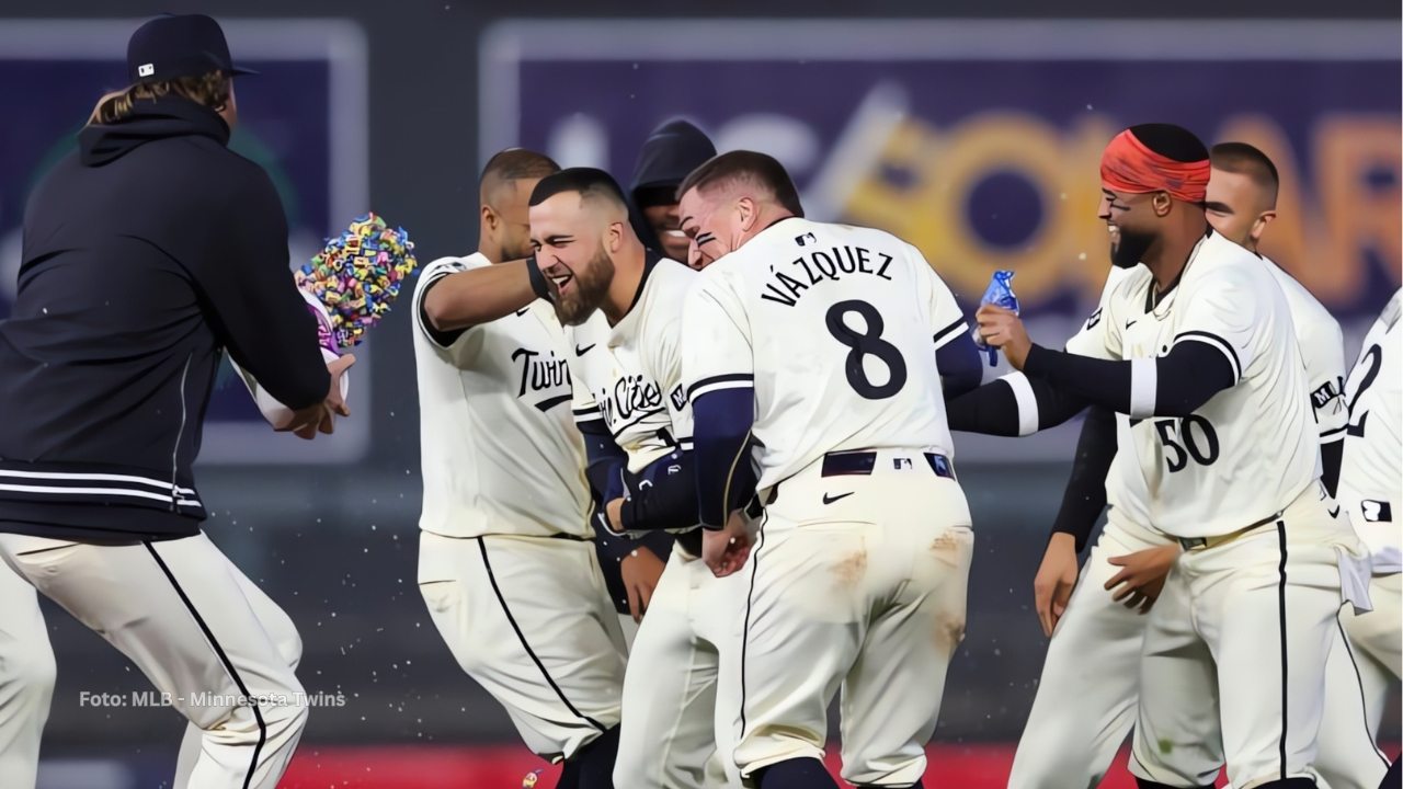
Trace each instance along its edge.
<instances>
[{"instance_id":1,"label":"black sleeve with white band on arm holding blue packet","mask_svg":"<svg viewBox=\"0 0 1403 789\"><path fill-rule=\"evenodd\" d=\"M1152 362L1153 366L1136 369L1139 362ZM1153 386L1136 379L1150 371ZM1033 345L1023 372L1030 379L1045 380L1089 403L1132 417L1187 417L1237 382L1232 362L1204 343L1180 343L1156 359L1125 361L1096 359ZM1145 394L1136 397L1139 387L1145 389ZM1149 402L1150 396L1153 402Z\"/></svg>"}]
</instances>

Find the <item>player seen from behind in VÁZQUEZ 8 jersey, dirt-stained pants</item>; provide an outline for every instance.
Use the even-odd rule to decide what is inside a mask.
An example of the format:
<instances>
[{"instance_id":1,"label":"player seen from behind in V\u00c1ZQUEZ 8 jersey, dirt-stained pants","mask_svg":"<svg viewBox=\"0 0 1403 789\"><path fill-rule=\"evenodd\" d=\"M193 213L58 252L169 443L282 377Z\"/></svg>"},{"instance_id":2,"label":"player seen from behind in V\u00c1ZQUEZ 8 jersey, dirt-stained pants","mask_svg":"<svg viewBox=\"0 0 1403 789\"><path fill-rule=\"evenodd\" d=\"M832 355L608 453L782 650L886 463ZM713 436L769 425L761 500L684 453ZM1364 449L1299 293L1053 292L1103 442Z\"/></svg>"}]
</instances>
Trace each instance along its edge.
<instances>
[{"instance_id":1,"label":"player seen from behind in V\u00c1ZQUEZ 8 jersey, dirt-stained pants","mask_svg":"<svg viewBox=\"0 0 1403 789\"><path fill-rule=\"evenodd\" d=\"M724 153L679 191L716 260L683 313L703 552L748 591L718 694L739 696L734 761L760 789L836 786L840 691L843 778L920 786L974 548L940 379L950 354L978 369L964 316L911 244L804 219L769 156Z\"/></svg>"}]
</instances>

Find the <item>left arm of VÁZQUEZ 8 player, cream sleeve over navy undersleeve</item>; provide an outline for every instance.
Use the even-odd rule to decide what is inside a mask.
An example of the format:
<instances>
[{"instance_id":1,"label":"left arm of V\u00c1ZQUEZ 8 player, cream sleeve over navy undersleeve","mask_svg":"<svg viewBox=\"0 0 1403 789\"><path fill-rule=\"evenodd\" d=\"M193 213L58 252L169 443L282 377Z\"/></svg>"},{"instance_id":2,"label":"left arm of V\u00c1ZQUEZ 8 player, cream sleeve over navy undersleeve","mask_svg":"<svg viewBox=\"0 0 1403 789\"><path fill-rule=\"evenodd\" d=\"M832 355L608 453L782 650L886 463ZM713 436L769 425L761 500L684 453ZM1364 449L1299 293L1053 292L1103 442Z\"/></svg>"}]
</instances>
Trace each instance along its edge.
<instances>
[{"instance_id":1,"label":"left arm of V\u00c1ZQUEZ 8 player, cream sleeve over navy undersleeve","mask_svg":"<svg viewBox=\"0 0 1403 789\"><path fill-rule=\"evenodd\" d=\"M697 518L707 529L725 526L755 494L755 355L745 310L718 279L699 282L683 309L682 379L692 404Z\"/></svg>"}]
</instances>

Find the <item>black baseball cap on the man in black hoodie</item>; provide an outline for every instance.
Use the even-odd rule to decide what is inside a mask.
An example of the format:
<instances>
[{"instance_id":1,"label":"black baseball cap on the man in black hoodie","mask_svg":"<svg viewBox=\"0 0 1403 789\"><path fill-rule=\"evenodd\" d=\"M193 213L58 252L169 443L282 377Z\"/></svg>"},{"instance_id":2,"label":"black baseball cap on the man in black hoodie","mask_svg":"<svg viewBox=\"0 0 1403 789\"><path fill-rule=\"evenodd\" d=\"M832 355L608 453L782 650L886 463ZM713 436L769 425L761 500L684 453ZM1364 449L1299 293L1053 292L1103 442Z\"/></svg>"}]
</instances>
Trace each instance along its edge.
<instances>
[{"instance_id":1,"label":"black baseball cap on the man in black hoodie","mask_svg":"<svg viewBox=\"0 0 1403 789\"><path fill-rule=\"evenodd\" d=\"M167 14L136 28L126 42L126 76L136 83L198 77L210 72L257 74L234 66L219 22L205 14Z\"/></svg>"}]
</instances>

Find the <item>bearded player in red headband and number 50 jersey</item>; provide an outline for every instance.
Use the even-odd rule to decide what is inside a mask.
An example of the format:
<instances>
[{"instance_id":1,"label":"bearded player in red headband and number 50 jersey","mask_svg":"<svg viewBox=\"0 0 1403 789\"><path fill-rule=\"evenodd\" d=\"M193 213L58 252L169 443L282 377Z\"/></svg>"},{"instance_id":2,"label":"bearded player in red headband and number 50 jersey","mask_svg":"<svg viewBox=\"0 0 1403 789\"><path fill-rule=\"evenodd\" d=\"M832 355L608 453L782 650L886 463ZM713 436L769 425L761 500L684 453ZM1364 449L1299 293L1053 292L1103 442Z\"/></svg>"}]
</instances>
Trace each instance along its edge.
<instances>
[{"instance_id":1,"label":"bearded player in red headband and number 50 jersey","mask_svg":"<svg viewBox=\"0 0 1403 789\"><path fill-rule=\"evenodd\" d=\"M1034 345L1009 310L981 333L1023 372L951 406L958 427L1047 427L1087 404L1118 417L1117 470L1143 522L1184 552L1146 623L1132 772L1202 786L1310 782L1324 663L1367 560L1319 483L1317 431L1285 295L1212 232L1208 152L1167 124L1117 135L1101 160L1113 260L1143 264L1087 321L1079 351ZM1348 567L1344 571L1341 567ZM1264 653L1264 644L1274 649Z\"/></svg>"}]
</instances>

